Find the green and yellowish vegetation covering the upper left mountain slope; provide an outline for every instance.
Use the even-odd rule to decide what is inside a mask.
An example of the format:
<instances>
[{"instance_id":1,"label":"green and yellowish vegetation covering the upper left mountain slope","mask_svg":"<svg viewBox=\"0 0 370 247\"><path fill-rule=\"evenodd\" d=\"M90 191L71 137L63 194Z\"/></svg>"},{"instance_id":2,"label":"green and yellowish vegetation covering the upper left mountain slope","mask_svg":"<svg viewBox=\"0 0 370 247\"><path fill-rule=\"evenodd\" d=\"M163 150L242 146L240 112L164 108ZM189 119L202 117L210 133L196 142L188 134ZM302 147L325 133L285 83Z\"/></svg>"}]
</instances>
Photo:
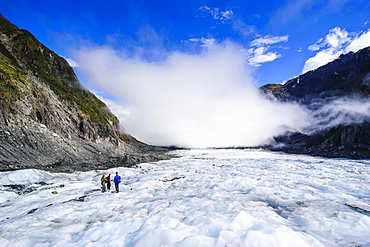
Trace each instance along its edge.
<instances>
[{"instance_id":1,"label":"green and yellowish vegetation covering the upper left mountain slope","mask_svg":"<svg viewBox=\"0 0 370 247\"><path fill-rule=\"evenodd\" d=\"M22 74L31 72L49 85L61 99L76 105L91 121L103 125L109 125L109 122L118 125L117 118L106 105L82 88L65 59L42 45L28 31L18 29L2 15L0 15L0 34L8 39L6 45L0 40L0 59L4 61L0 65L2 101L15 101L21 97L15 82L25 80Z\"/></svg>"}]
</instances>

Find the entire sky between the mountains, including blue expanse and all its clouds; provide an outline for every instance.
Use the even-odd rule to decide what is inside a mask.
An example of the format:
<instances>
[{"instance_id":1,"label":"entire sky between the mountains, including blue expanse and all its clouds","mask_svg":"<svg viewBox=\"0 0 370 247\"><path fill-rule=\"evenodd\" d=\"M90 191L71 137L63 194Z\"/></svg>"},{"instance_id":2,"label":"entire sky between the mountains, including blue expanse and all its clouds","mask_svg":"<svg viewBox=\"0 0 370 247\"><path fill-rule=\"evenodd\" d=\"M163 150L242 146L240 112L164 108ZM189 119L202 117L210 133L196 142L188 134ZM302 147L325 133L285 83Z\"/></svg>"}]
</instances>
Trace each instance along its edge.
<instances>
[{"instance_id":1,"label":"entire sky between the mountains, including blue expanse and all its clouds","mask_svg":"<svg viewBox=\"0 0 370 247\"><path fill-rule=\"evenodd\" d=\"M3 0L0 10L68 58L129 133L160 145L258 145L303 128L304 109L256 88L370 46L368 0Z\"/></svg>"}]
</instances>

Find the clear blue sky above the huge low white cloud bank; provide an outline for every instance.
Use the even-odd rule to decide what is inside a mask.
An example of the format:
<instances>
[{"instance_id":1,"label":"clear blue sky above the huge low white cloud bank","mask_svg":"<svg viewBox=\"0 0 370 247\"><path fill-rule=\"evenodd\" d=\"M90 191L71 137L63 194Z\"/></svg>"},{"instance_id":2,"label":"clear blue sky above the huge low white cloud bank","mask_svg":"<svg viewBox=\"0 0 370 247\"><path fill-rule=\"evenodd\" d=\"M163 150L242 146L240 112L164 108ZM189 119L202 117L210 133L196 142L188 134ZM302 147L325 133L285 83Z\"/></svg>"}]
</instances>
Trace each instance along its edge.
<instances>
[{"instance_id":1,"label":"clear blue sky above the huge low white cloud bank","mask_svg":"<svg viewBox=\"0 0 370 247\"><path fill-rule=\"evenodd\" d=\"M158 59L166 52L197 52L200 46L231 40L251 51L248 59L258 66L259 85L301 74L319 52L309 47L330 30L339 28L353 38L370 28L370 3L362 0L3 0L0 9L66 57L87 41L132 51L140 47L151 50L148 59Z\"/></svg>"}]
</instances>

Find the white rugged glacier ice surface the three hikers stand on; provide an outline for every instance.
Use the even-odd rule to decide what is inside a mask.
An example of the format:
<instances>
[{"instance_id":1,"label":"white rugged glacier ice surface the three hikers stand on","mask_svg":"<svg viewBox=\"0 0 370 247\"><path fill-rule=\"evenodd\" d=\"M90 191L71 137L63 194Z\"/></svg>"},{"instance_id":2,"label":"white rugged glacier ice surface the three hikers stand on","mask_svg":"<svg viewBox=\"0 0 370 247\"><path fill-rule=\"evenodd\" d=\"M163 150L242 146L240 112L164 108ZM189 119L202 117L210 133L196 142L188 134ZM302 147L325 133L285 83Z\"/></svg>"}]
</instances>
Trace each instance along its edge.
<instances>
[{"instance_id":1,"label":"white rugged glacier ice surface the three hikers stand on","mask_svg":"<svg viewBox=\"0 0 370 247\"><path fill-rule=\"evenodd\" d=\"M0 173L0 246L370 246L370 161L262 150ZM100 192L118 171L120 193Z\"/></svg>"}]
</instances>

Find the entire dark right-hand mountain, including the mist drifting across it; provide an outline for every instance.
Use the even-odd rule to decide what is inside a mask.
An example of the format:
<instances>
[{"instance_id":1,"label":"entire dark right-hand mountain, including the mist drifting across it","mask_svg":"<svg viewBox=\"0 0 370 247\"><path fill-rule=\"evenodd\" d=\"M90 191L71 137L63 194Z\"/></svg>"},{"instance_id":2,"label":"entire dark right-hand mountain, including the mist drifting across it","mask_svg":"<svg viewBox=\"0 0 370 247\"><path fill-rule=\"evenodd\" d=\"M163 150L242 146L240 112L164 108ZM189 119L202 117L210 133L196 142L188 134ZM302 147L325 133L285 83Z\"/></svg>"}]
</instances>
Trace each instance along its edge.
<instances>
[{"instance_id":1,"label":"entire dark right-hand mountain, including the mist drifting across it","mask_svg":"<svg viewBox=\"0 0 370 247\"><path fill-rule=\"evenodd\" d=\"M341 55L284 85L268 84L261 90L278 100L305 105L319 123L305 133L275 137L278 145L269 148L327 157L370 158L370 109L361 109L362 114L348 109L351 105L356 112L355 103L359 108L370 100L370 47ZM342 110L343 103L347 108Z\"/></svg>"}]
</instances>

